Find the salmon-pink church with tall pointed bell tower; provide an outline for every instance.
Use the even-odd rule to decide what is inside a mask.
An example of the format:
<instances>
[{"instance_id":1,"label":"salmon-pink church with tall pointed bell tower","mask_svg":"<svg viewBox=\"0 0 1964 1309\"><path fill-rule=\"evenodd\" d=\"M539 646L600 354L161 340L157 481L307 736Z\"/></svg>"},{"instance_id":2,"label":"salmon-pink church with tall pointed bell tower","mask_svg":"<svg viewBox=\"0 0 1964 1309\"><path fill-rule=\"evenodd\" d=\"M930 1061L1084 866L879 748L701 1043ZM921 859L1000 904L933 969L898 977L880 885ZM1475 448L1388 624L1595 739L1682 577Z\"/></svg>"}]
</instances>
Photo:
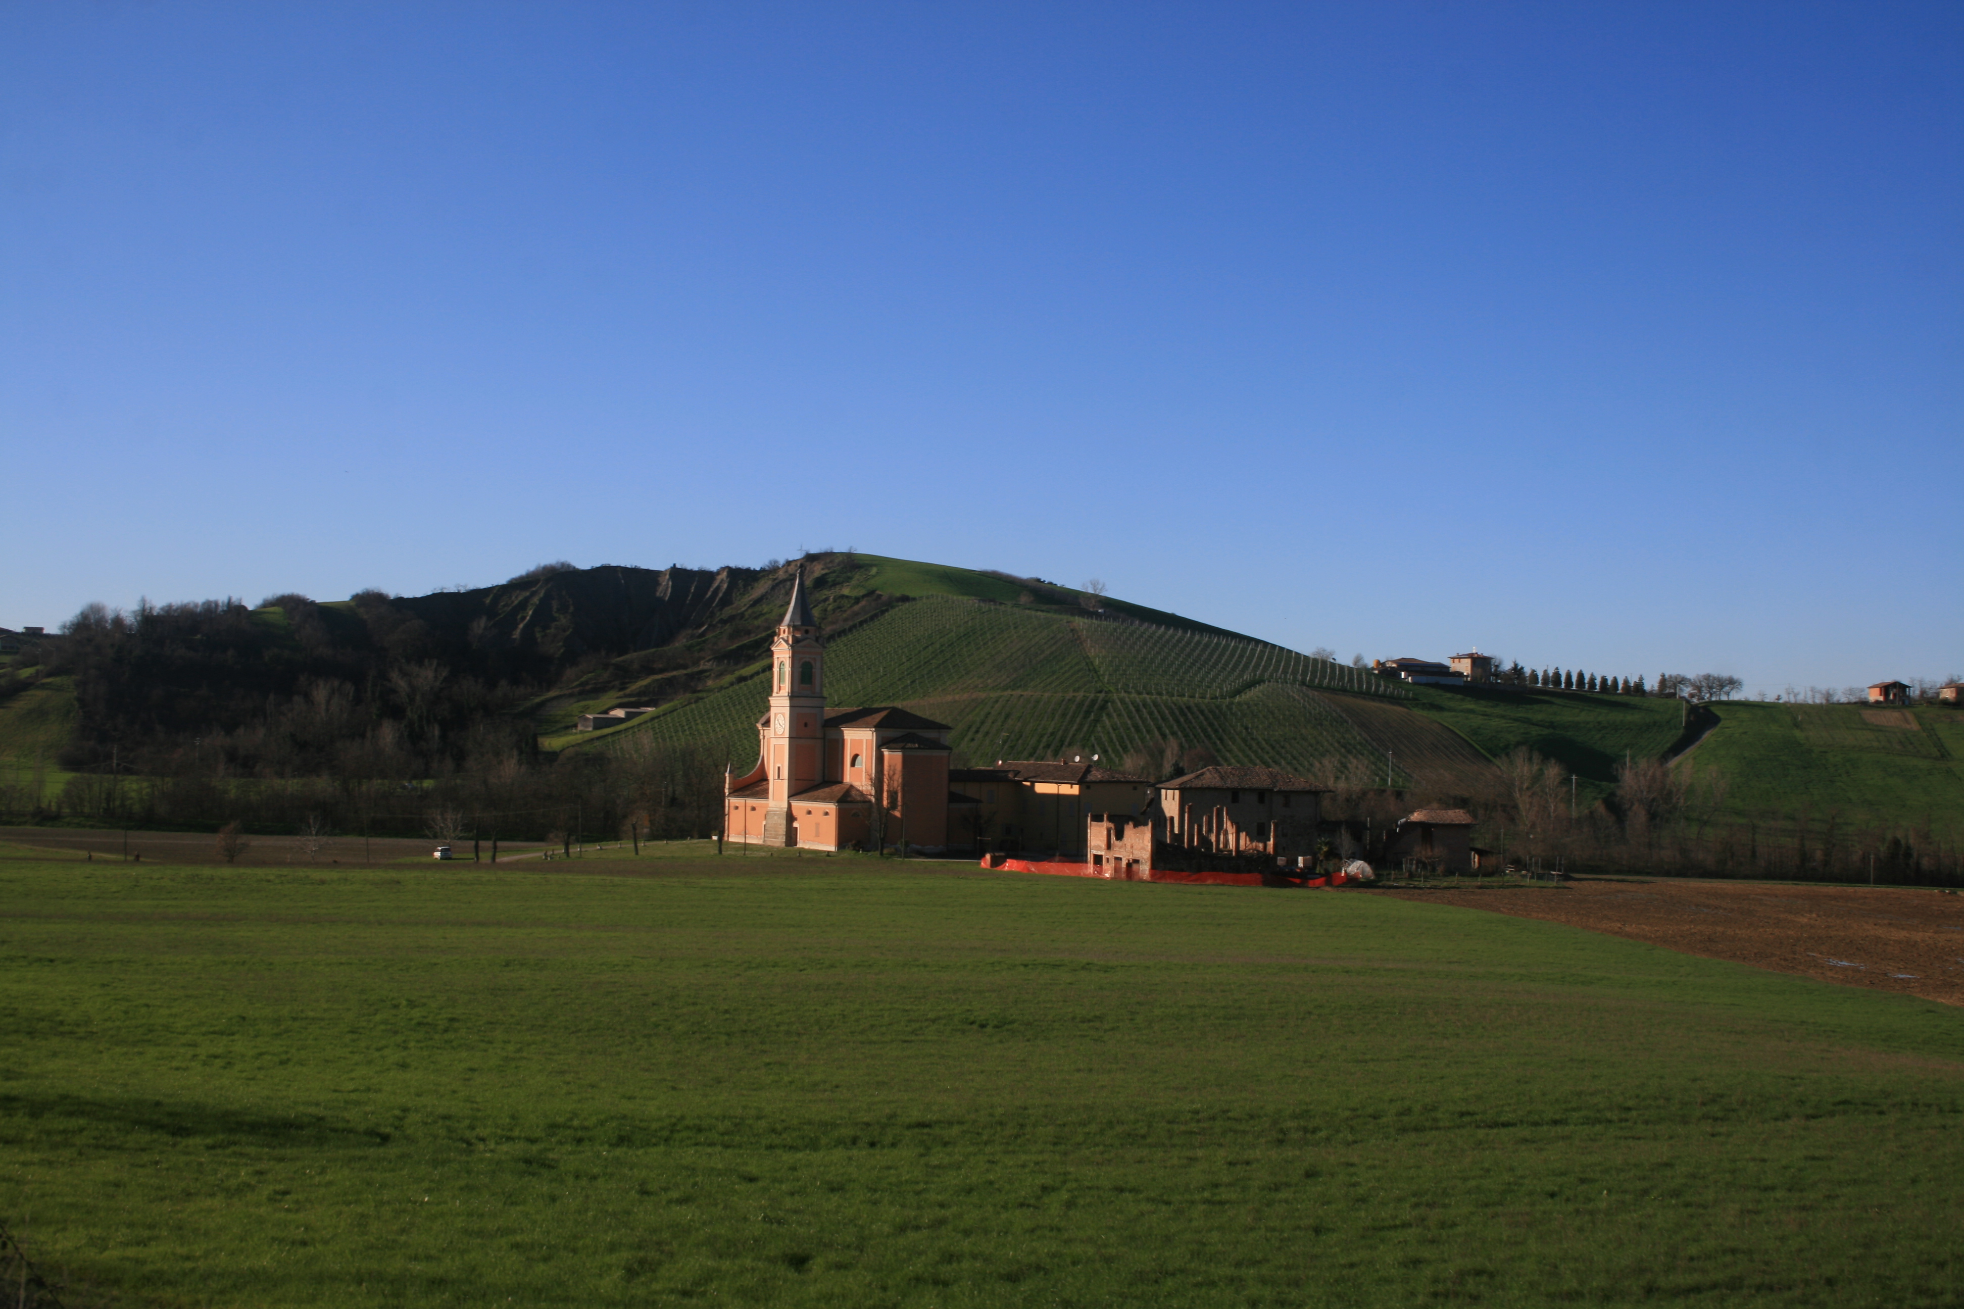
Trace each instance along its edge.
<instances>
[{"instance_id":1,"label":"salmon-pink church with tall pointed bell tower","mask_svg":"<svg viewBox=\"0 0 1964 1309\"><path fill-rule=\"evenodd\" d=\"M943 850L974 840L980 801L949 789L949 724L892 705L825 708L825 642L803 571L770 654L756 767L725 773L727 840L807 850Z\"/></svg>"}]
</instances>

